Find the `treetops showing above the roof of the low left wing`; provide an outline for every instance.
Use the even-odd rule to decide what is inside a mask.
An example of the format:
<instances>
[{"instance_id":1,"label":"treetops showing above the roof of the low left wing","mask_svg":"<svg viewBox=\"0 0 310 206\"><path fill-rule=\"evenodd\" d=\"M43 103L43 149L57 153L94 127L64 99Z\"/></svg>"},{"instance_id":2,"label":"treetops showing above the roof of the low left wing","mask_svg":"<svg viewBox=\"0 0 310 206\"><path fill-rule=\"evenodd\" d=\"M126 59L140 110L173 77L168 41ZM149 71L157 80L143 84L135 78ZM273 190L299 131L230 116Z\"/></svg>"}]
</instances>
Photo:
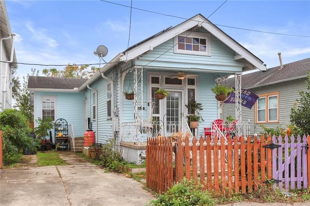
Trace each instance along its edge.
<instances>
[{"instance_id":1,"label":"treetops showing above the roof of the low left wing","mask_svg":"<svg viewBox=\"0 0 310 206\"><path fill-rule=\"evenodd\" d=\"M95 74L99 68L92 67L91 71L88 71L89 65L78 66L76 64L68 65L64 70L44 69L42 74L52 77L77 77L77 78L89 78Z\"/></svg>"}]
</instances>

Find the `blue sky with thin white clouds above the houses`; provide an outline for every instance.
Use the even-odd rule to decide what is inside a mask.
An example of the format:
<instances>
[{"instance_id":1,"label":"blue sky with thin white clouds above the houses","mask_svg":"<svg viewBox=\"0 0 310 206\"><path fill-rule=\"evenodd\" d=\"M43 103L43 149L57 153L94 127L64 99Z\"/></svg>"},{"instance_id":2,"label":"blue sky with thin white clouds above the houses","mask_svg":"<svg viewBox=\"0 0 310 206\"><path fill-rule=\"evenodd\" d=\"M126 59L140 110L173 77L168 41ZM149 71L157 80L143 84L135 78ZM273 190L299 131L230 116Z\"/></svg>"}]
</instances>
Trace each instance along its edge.
<instances>
[{"instance_id":1,"label":"blue sky with thin white clouds above the houses","mask_svg":"<svg viewBox=\"0 0 310 206\"><path fill-rule=\"evenodd\" d=\"M283 64L310 57L310 0L224 2L133 0L132 6L139 10L132 9L130 24L130 0L5 0L21 63L99 63L93 54L99 45L109 49L104 58L109 61L127 48L129 28L131 46L194 15L209 17L216 10L208 19L262 59L267 68L279 66L278 52ZM19 64L17 75L26 76L31 68L41 72L64 67Z\"/></svg>"}]
</instances>

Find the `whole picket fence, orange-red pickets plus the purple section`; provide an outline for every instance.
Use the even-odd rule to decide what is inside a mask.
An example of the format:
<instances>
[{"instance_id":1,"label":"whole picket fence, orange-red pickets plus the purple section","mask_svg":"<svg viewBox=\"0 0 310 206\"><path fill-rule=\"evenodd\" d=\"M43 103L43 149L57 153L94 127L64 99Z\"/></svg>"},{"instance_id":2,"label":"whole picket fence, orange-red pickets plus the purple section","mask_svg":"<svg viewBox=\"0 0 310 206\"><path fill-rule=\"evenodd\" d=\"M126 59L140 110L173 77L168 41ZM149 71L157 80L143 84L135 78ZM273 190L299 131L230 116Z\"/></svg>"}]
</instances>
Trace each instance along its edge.
<instances>
[{"instance_id":1,"label":"whole picket fence, orange-red pickets plus the purple section","mask_svg":"<svg viewBox=\"0 0 310 206\"><path fill-rule=\"evenodd\" d=\"M248 140L248 141L247 141ZM171 138L149 138L146 148L147 187L167 191L182 178L202 183L218 195L250 193L264 184L285 188L307 188L310 181L310 136L251 139L240 137L185 142ZM293 161L294 160L294 161Z\"/></svg>"}]
</instances>

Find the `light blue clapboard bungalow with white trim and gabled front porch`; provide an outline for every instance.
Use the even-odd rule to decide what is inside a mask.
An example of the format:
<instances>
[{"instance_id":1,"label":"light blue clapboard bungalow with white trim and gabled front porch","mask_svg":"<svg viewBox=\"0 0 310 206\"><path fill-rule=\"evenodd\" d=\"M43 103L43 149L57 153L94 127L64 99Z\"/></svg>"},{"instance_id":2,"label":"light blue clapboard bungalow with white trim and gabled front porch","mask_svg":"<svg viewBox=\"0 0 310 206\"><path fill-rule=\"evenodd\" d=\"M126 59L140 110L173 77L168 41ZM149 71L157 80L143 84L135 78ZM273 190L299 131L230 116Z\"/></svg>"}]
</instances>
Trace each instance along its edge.
<instances>
[{"instance_id":1,"label":"light blue clapboard bungalow with white trim and gabled front porch","mask_svg":"<svg viewBox=\"0 0 310 206\"><path fill-rule=\"evenodd\" d=\"M29 78L28 89L34 98L34 119L47 114L55 120L64 118L75 136L83 136L91 125L96 143L115 139L121 146L129 142L134 146L127 147L142 149L148 136L178 131L204 135L204 128L219 117L220 103L211 91L215 80L254 69L266 67L198 14L119 53L90 79L70 78L67 87L55 88L55 82L66 80L36 76ZM49 80L42 84L40 78ZM156 99L158 88L169 95ZM134 91L133 100L125 99L125 90ZM199 112L203 121L195 130L186 123L186 105L191 101L202 103L203 108ZM130 159L130 154L124 156Z\"/></svg>"}]
</instances>

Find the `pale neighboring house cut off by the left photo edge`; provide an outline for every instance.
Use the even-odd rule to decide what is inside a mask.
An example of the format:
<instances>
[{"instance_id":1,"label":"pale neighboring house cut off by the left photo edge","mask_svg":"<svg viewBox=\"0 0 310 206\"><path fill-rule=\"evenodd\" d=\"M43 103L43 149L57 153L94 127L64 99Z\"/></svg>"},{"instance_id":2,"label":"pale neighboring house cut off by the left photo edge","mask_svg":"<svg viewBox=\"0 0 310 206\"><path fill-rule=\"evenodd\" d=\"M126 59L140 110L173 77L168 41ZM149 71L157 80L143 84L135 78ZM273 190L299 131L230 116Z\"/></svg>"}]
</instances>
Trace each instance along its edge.
<instances>
[{"instance_id":1,"label":"pale neighboring house cut off by the left photo edge","mask_svg":"<svg viewBox=\"0 0 310 206\"><path fill-rule=\"evenodd\" d=\"M7 108L13 108L12 70L17 69L17 64L14 63L17 61L14 36L4 0L0 0L0 112Z\"/></svg>"}]
</instances>

